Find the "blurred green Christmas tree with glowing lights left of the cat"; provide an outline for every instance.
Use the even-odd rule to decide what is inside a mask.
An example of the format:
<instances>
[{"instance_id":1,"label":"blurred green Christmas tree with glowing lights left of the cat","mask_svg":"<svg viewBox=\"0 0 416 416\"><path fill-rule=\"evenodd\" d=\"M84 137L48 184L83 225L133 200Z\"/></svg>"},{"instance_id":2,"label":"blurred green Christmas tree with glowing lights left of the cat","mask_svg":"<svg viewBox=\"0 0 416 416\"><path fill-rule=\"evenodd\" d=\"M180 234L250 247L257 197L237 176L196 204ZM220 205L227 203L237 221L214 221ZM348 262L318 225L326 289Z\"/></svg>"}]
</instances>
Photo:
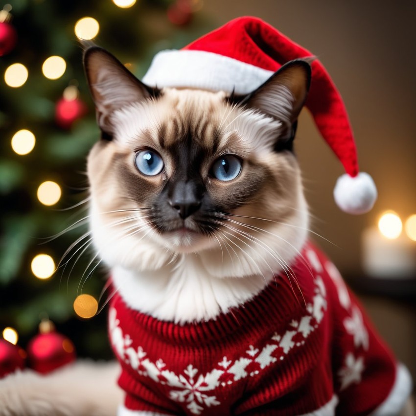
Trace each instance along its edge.
<instances>
[{"instance_id":1,"label":"blurred green Christmas tree with glowing lights left of the cat","mask_svg":"<svg viewBox=\"0 0 416 416\"><path fill-rule=\"evenodd\" d=\"M98 307L106 299L89 235L53 273L88 230L83 172L99 137L77 37L93 38L140 78L158 50L211 28L201 0L135 3L10 0L0 12L0 330L16 328L23 347L47 314L80 355L110 354L105 313L85 323L74 311L78 295L92 295Z\"/></svg>"}]
</instances>

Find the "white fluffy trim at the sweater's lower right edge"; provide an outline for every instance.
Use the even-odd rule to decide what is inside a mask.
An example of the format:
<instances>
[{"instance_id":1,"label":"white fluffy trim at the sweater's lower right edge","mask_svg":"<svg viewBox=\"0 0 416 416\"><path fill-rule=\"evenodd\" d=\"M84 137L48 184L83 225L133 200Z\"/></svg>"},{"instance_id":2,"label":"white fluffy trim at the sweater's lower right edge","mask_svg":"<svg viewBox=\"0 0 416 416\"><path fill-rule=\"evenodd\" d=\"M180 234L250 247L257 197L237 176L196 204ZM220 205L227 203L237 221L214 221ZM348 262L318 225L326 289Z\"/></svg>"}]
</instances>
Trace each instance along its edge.
<instances>
[{"instance_id":1,"label":"white fluffy trim at the sweater's lower right edge","mask_svg":"<svg viewBox=\"0 0 416 416\"><path fill-rule=\"evenodd\" d=\"M412 377L402 364L397 366L393 389L387 399L370 416L399 415L412 393Z\"/></svg>"}]
</instances>

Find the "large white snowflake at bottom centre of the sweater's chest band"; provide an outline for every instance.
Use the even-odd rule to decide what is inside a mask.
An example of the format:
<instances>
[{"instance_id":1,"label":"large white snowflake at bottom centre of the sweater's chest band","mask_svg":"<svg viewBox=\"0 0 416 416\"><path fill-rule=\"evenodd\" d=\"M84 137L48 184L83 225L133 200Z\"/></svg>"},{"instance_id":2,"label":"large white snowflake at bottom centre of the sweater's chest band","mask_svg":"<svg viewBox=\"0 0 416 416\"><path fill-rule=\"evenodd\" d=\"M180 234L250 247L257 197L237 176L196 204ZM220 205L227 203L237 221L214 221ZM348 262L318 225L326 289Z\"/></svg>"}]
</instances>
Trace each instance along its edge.
<instances>
[{"instance_id":1,"label":"large white snowflake at bottom centre of the sweater's chest band","mask_svg":"<svg viewBox=\"0 0 416 416\"><path fill-rule=\"evenodd\" d=\"M188 403L186 407L194 415L200 415L205 407L218 406L221 404L215 396L209 396L204 392L214 390L218 386L218 379L224 371L212 370L204 377L200 374L197 378L198 370L189 364L184 370L184 374L179 377L174 376L175 380L169 380L169 385L180 387L181 390L171 390L169 396L172 400L179 403ZM164 371L162 371L164 374ZM170 374L172 375L172 374ZM171 383L173 381L173 383Z\"/></svg>"}]
</instances>

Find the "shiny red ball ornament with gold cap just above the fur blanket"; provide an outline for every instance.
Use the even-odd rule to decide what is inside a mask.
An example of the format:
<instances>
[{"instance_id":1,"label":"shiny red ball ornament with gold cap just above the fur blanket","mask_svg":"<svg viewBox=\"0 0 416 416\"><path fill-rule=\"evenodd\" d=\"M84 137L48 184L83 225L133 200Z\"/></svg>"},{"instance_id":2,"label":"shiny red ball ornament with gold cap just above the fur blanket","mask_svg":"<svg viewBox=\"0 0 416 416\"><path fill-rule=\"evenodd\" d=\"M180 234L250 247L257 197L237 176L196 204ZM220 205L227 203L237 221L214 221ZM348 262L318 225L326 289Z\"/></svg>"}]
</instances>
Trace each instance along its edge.
<instances>
[{"instance_id":1,"label":"shiny red ball ornament with gold cap just above the fur blanket","mask_svg":"<svg viewBox=\"0 0 416 416\"><path fill-rule=\"evenodd\" d=\"M39 325L39 334L27 346L29 366L42 374L75 360L75 348L69 338L55 331L48 319Z\"/></svg>"}]
</instances>

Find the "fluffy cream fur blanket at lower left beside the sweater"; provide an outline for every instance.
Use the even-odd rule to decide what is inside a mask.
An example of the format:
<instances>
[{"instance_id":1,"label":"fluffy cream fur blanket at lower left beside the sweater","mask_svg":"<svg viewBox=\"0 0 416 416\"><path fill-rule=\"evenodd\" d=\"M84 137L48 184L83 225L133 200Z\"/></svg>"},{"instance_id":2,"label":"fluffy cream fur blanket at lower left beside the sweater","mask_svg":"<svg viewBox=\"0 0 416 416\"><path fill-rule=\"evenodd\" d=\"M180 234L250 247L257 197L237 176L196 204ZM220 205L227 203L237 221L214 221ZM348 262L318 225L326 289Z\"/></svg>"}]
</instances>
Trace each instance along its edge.
<instances>
[{"instance_id":1,"label":"fluffy cream fur blanket at lower left beside the sweater","mask_svg":"<svg viewBox=\"0 0 416 416\"><path fill-rule=\"evenodd\" d=\"M18 371L0 380L0 416L115 416L117 363L79 360L48 375Z\"/></svg>"}]
</instances>

